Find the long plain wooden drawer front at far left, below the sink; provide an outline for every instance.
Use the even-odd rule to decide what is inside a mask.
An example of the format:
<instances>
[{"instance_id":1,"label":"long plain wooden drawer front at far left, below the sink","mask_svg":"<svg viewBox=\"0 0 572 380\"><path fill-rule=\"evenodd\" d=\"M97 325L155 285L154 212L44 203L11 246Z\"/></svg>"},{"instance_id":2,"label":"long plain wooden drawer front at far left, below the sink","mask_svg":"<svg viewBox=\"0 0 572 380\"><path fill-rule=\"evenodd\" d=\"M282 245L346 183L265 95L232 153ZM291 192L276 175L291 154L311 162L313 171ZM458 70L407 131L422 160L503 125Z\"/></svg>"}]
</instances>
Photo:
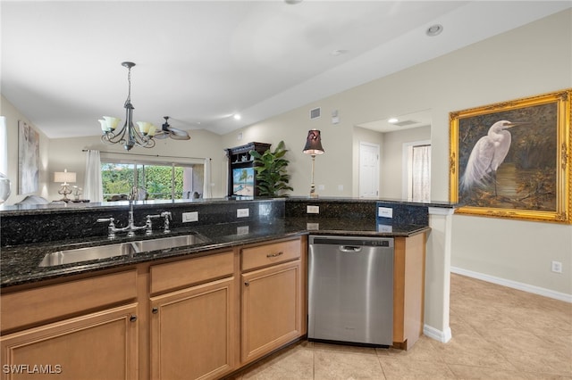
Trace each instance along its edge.
<instances>
[{"instance_id":1,"label":"long plain wooden drawer front at far left, below the sink","mask_svg":"<svg viewBox=\"0 0 572 380\"><path fill-rule=\"evenodd\" d=\"M136 297L135 270L2 294L2 331L131 301Z\"/></svg>"}]
</instances>

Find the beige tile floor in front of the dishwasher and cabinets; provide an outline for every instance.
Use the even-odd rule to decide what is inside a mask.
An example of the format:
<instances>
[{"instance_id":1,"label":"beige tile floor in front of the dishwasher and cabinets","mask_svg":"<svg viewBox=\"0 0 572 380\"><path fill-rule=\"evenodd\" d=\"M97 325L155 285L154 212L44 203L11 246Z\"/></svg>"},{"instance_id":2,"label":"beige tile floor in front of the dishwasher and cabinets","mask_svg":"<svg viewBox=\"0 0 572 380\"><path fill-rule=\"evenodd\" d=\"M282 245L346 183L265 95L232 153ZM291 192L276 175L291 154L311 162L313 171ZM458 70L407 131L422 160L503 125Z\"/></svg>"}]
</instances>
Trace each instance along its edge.
<instances>
[{"instance_id":1,"label":"beige tile floor in front of the dishwasher and cabinets","mask_svg":"<svg viewBox=\"0 0 572 380\"><path fill-rule=\"evenodd\" d=\"M299 342L233 380L572 379L572 304L451 275L453 338L409 351Z\"/></svg>"}]
</instances>

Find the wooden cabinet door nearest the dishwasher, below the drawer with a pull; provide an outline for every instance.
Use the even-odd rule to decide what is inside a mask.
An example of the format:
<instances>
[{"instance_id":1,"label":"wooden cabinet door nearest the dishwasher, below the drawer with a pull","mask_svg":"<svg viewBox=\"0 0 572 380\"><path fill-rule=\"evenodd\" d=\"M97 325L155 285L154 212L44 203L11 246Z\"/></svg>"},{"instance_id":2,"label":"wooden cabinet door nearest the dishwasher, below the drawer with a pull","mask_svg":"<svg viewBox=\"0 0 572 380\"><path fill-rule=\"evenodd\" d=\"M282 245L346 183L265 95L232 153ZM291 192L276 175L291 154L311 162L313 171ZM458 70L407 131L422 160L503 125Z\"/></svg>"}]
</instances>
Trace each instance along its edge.
<instances>
[{"instance_id":1,"label":"wooden cabinet door nearest the dishwasher, below the drawer with a pull","mask_svg":"<svg viewBox=\"0 0 572 380\"><path fill-rule=\"evenodd\" d=\"M242 275L242 361L257 359L302 335L300 260Z\"/></svg>"}]
</instances>

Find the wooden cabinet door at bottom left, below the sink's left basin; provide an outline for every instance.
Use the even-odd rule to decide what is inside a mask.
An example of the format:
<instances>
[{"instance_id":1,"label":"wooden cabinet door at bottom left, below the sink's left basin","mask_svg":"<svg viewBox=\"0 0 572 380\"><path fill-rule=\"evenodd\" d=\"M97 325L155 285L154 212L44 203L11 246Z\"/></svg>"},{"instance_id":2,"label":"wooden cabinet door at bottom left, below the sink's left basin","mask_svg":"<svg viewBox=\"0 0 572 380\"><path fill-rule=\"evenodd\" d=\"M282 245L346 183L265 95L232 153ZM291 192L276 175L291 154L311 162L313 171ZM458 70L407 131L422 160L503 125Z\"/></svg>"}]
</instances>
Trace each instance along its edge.
<instances>
[{"instance_id":1,"label":"wooden cabinet door at bottom left, below the sink's left basin","mask_svg":"<svg viewBox=\"0 0 572 380\"><path fill-rule=\"evenodd\" d=\"M130 304L5 335L2 378L136 379L136 312Z\"/></svg>"}]
</instances>

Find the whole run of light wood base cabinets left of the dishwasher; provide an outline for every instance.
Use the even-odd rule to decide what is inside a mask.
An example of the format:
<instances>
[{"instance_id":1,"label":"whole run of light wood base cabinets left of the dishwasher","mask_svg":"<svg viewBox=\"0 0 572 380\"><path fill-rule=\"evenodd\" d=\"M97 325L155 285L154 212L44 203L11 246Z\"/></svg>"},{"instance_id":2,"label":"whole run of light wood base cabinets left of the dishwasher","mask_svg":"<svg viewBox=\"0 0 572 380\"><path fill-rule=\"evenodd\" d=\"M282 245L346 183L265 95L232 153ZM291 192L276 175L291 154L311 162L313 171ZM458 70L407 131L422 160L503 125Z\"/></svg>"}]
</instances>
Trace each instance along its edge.
<instances>
[{"instance_id":1,"label":"whole run of light wood base cabinets left of the dishwasher","mask_svg":"<svg viewBox=\"0 0 572 380\"><path fill-rule=\"evenodd\" d=\"M48 283L1 295L2 379L222 378L307 331L306 236Z\"/></svg>"}]
</instances>

